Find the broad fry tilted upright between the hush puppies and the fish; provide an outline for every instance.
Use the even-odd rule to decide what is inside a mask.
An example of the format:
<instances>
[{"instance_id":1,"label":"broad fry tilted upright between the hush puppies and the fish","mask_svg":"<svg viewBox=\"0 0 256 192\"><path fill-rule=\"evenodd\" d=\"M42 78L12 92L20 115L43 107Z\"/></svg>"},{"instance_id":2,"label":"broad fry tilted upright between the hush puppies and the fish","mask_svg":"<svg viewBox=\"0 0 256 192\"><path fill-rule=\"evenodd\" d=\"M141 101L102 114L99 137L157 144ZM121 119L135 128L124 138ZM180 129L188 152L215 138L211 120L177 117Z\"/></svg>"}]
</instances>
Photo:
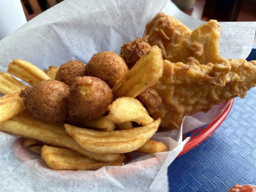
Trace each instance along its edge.
<instances>
[{"instance_id":1,"label":"broad fry tilted upright between the hush puppies and the fish","mask_svg":"<svg viewBox=\"0 0 256 192\"><path fill-rule=\"evenodd\" d=\"M112 88L115 97L136 97L154 85L162 76L161 50L153 46Z\"/></svg>"}]
</instances>

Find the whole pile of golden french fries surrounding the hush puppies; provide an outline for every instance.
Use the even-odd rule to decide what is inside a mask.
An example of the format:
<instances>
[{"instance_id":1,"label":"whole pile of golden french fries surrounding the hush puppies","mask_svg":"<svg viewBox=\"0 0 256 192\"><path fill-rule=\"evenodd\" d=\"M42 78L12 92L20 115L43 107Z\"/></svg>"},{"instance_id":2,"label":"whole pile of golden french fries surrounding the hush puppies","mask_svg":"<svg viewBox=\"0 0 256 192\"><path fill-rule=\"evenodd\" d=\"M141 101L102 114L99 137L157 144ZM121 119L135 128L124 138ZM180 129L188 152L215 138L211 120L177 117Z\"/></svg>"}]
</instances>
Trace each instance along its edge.
<instances>
[{"instance_id":1,"label":"whole pile of golden french fries surrounding the hush puppies","mask_svg":"<svg viewBox=\"0 0 256 192\"><path fill-rule=\"evenodd\" d=\"M8 72L35 85L55 79L58 67L42 71L24 60L13 60ZM0 131L26 137L24 146L41 155L52 169L95 170L121 166L125 153L158 153L166 144L151 141L160 119L153 120L135 99L162 76L163 60L157 46L145 54L113 87L109 114L95 120L70 116L66 122L43 122L26 111L19 92L25 85L11 74L0 73ZM135 122L140 127L133 127ZM79 127L77 127L79 126Z\"/></svg>"}]
</instances>

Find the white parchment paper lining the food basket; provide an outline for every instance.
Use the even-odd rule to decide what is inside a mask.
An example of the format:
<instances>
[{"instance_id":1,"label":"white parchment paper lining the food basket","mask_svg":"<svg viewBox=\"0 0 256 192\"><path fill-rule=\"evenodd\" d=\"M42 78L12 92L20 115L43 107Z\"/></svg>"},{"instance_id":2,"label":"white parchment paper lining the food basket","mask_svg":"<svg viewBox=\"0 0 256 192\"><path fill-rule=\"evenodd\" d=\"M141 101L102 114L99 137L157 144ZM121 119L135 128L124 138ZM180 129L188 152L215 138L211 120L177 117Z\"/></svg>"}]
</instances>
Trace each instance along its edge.
<instances>
[{"instance_id":1,"label":"white parchment paper lining the food basket","mask_svg":"<svg viewBox=\"0 0 256 192\"><path fill-rule=\"evenodd\" d=\"M6 71L8 63L16 58L46 69L68 60L86 63L99 51L119 53L124 42L142 36L146 23L160 11L178 18L191 29L203 23L166 0L65 0L0 41L0 71ZM256 23L221 23L221 26L221 56L246 58ZM97 171L51 170L38 156L24 149L22 139L0 132L1 190L167 192L167 168L189 140L182 141L182 133L214 120L225 105L185 117L180 131L156 133L154 139L168 144L169 152L133 154L133 159L136 158L127 165Z\"/></svg>"}]
</instances>

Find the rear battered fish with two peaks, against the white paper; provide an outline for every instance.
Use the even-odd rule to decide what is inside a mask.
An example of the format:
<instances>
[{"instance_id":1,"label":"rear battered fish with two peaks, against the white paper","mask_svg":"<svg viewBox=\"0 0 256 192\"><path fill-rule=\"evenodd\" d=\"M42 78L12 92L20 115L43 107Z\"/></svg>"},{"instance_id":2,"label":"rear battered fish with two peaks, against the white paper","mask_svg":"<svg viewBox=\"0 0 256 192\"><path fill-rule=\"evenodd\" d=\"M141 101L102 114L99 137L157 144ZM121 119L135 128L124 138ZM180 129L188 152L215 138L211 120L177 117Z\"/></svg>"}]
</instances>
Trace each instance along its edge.
<instances>
[{"instance_id":1,"label":"rear battered fish with two peaks, against the white paper","mask_svg":"<svg viewBox=\"0 0 256 192\"><path fill-rule=\"evenodd\" d=\"M143 38L162 49L163 59L186 63L194 57L200 64L221 63L219 55L220 25L216 20L190 31L175 18L158 13L147 25Z\"/></svg>"}]
</instances>

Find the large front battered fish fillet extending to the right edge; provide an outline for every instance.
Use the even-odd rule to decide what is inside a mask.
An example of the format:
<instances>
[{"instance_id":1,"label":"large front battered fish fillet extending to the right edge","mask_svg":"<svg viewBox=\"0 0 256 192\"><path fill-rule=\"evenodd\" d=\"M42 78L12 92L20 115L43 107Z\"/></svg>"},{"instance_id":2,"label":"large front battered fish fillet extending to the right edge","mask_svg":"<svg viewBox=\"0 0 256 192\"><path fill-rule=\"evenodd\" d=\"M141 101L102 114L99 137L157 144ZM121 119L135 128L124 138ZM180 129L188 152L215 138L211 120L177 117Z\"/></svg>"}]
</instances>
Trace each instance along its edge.
<instances>
[{"instance_id":1,"label":"large front battered fish fillet extending to the right edge","mask_svg":"<svg viewBox=\"0 0 256 192\"><path fill-rule=\"evenodd\" d=\"M201 65L164 60L163 76L158 83L137 98L146 105L161 127L179 129L186 115L207 112L213 105L233 97L244 98L256 86L256 60L225 60L219 64Z\"/></svg>"}]
</instances>

